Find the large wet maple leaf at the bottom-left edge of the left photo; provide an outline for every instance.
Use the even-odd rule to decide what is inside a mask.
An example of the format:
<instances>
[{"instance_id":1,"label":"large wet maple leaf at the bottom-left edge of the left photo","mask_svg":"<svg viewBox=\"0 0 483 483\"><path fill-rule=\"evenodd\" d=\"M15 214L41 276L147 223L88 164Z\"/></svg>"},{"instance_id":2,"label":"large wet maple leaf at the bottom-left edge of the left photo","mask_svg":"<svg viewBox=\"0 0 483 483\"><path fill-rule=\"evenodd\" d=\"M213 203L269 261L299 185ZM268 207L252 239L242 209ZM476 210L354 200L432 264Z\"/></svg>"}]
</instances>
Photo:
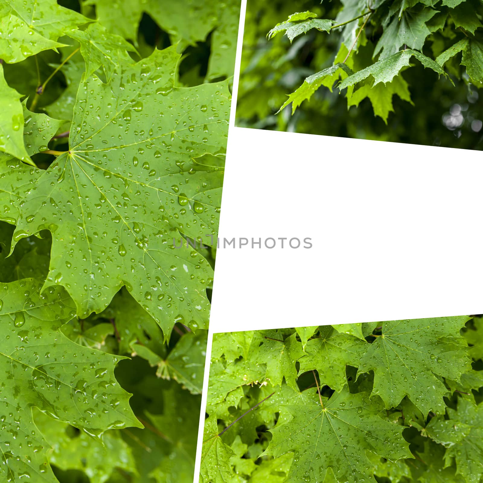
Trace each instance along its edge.
<instances>
[{"instance_id":1,"label":"large wet maple leaf at the bottom-left edge of the left photo","mask_svg":"<svg viewBox=\"0 0 483 483\"><path fill-rule=\"evenodd\" d=\"M118 357L71 342L58 329L74 314L61 287L42 295L31 279L0 285L3 343L0 365L5 481L56 482L46 465L46 442L32 419L33 406L56 419L100 437L114 427L141 426L128 404L129 394L114 379Z\"/></svg>"}]
</instances>

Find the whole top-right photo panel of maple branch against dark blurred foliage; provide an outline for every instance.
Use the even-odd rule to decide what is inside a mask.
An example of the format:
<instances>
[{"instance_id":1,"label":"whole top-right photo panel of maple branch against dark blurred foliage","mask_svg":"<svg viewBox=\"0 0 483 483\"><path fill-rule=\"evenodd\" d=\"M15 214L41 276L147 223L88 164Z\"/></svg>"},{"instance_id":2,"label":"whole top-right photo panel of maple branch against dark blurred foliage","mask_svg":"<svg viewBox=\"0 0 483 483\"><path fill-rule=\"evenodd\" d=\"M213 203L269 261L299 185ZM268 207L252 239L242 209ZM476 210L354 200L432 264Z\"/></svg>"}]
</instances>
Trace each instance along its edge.
<instances>
[{"instance_id":1,"label":"whole top-right photo panel of maple branch against dark blurred foliage","mask_svg":"<svg viewBox=\"0 0 483 483\"><path fill-rule=\"evenodd\" d=\"M482 14L472 0L249 0L237 123L479 148Z\"/></svg>"}]
</instances>

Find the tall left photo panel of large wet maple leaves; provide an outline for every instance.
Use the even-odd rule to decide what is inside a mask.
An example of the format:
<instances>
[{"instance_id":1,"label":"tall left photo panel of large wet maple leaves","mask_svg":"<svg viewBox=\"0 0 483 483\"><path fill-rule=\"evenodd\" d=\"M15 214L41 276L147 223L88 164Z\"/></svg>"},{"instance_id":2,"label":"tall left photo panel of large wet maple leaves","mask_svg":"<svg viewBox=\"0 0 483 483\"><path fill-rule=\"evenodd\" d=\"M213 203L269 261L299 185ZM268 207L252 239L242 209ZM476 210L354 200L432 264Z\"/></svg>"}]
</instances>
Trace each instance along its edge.
<instances>
[{"instance_id":1,"label":"tall left photo panel of large wet maple leaves","mask_svg":"<svg viewBox=\"0 0 483 483\"><path fill-rule=\"evenodd\" d=\"M191 482L240 1L0 14L0 481Z\"/></svg>"}]
</instances>

